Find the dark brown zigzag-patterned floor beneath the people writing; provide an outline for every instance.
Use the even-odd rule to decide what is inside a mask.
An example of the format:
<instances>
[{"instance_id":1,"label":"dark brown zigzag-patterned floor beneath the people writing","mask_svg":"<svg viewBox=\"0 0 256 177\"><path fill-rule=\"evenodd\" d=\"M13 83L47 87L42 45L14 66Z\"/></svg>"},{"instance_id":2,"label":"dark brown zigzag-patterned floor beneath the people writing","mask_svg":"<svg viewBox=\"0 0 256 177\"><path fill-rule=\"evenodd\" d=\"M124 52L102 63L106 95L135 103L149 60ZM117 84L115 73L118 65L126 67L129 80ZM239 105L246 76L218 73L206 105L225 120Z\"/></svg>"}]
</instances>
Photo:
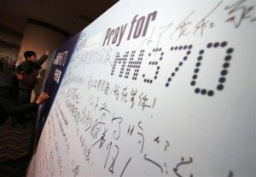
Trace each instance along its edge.
<instances>
[{"instance_id":1,"label":"dark brown zigzag-patterned floor beneath the people writing","mask_svg":"<svg viewBox=\"0 0 256 177\"><path fill-rule=\"evenodd\" d=\"M24 177L30 162L32 121L20 128L11 126L11 117L0 126L0 177Z\"/></svg>"}]
</instances>

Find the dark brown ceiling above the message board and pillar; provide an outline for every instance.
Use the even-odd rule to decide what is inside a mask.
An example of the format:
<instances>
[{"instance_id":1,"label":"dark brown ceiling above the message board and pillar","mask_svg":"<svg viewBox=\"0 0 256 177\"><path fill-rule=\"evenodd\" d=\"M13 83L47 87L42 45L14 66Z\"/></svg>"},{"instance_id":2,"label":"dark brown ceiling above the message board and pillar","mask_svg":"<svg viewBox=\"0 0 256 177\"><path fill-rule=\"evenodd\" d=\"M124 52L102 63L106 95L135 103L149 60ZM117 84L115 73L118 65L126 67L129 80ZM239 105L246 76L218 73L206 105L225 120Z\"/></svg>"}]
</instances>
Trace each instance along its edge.
<instances>
[{"instance_id":1,"label":"dark brown ceiling above the message board and pillar","mask_svg":"<svg viewBox=\"0 0 256 177\"><path fill-rule=\"evenodd\" d=\"M54 27L73 37L118 0L1 0L0 42L20 46L26 22Z\"/></svg>"}]
</instances>

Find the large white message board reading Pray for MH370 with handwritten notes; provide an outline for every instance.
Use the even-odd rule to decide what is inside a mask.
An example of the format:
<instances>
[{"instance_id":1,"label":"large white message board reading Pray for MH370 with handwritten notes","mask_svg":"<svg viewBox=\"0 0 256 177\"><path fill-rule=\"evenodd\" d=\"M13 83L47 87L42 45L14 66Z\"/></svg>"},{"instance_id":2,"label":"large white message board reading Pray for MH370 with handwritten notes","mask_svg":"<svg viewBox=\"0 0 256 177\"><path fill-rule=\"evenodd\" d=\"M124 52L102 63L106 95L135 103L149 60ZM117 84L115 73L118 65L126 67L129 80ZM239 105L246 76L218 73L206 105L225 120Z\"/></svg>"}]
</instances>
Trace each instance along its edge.
<instances>
[{"instance_id":1,"label":"large white message board reading Pray for MH370 with handwritten notes","mask_svg":"<svg viewBox=\"0 0 256 177\"><path fill-rule=\"evenodd\" d=\"M121 1L82 31L33 176L255 176L255 1Z\"/></svg>"}]
</instances>

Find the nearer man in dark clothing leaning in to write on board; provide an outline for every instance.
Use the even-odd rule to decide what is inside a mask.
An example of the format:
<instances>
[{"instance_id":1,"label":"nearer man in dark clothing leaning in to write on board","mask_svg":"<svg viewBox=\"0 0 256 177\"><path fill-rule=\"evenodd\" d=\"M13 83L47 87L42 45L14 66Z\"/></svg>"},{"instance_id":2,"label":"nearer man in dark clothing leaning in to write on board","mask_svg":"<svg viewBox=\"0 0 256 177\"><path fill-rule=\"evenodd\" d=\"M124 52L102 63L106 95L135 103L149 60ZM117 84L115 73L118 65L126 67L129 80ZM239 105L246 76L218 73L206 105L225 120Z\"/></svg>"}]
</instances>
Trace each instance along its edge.
<instances>
[{"instance_id":1,"label":"nearer man in dark clothing leaning in to write on board","mask_svg":"<svg viewBox=\"0 0 256 177\"><path fill-rule=\"evenodd\" d=\"M38 106L49 99L49 94L42 93L32 103L19 104L19 88L32 87L38 80L41 69L31 60L23 61L15 71L0 71L0 125L10 116L21 116L36 112ZM20 85L20 86L19 86Z\"/></svg>"}]
</instances>

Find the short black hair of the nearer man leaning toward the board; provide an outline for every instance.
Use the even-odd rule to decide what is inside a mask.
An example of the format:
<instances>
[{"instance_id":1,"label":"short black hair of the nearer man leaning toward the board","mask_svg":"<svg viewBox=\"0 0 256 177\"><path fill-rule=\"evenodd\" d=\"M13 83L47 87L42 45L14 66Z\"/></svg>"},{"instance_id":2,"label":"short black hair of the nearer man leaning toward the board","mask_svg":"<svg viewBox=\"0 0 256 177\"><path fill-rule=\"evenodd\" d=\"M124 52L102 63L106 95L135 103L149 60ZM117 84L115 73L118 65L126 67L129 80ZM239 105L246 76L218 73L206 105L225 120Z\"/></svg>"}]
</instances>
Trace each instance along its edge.
<instances>
[{"instance_id":1,"label":"short black hair of the nearer man leaning toward the board","mask_svg":"<svg viewBox=\"0 0 256 177\"><path fill-rule=\"evenodd\" d=\"M26 74L32 73L34 70L40 70L41 66L38 66L37 63L32 60L26 60L20 63L19 66L16 67L15 72L20 74L21 71L26 72Z\"/></svg>"}]
</instances>

